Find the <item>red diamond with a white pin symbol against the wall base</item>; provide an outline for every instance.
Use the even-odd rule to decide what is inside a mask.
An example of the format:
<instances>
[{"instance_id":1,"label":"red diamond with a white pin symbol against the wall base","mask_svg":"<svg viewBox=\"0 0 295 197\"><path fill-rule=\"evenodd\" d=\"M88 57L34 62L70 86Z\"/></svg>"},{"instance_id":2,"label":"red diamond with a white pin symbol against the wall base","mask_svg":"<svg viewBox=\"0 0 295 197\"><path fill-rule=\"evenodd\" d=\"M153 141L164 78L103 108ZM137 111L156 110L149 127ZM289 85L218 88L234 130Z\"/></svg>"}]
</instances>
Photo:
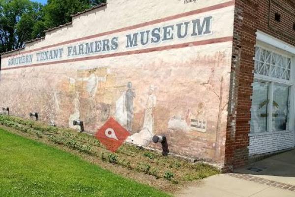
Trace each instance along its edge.
<instances>
[{"instance_id":1,"label":"red diamond with a white pin symbol against the wall base","mask_svg":"<svg viewBox=\"0 0 295 197\"><path fill-rule=\"evenodd\" d=\"M116 152L130 133L114 118L110 118L95 134L108 150Z\"/></svg>"}]
</instances>

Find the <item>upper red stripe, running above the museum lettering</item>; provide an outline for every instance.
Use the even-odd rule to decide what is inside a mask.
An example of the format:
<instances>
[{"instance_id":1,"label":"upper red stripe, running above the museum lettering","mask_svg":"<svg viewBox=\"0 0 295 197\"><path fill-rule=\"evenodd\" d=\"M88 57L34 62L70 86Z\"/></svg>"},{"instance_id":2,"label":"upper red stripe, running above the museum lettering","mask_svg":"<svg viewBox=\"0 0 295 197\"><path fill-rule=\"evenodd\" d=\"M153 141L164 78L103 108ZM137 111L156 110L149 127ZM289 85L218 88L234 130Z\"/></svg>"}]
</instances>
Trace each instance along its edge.
<instances>
[{"instance_id":1,"label":"upper red stripe, running above the museum lettering","mask_svg":"<svg viewBox=\"0 0 295 197\"><path fill-rule=\"evenodd\" d=\"M24 52L21 52L21 53L18 53L18 54L13 54L13 55L6 56L5 58L9 58L9 57L12 57L12 56L17 56L17 55L22 55L22 54L26 54L26 53L31 53L31 52L34 52L34 51L40 51L40 50L43 50L43 49L57 47L57 46L60 46L60 45L70 44L70 43L73 43L73 42L87 40L87 39L100 37L100 36L104 36L104 35L110 35L110 34L114 34L114 33L125 32L125 31L128 31L128 30L134 30L134 29L145 27L145 26L154 25L154 24L157 24L157 23L162 23L162 22L182 18L182 17L185 17L185 16L191 16L191 15L200 14L200 13L203 13L203 12L208 12L208 11L212 11L212 10L216 10L216 9L221 9L221 8L224 8L224 7L229 7L229 6L232 6L232 5L235 5L235 0L231 0L231 1L228 1L228 2L225 2L225 3L220 3L220 4L217 4L217 5L212 5L212 6L209 6L209 7L205 7L205 8L201 8L201 9L197 9L197 10L177 14L177 15L174 15L174 16L169 16L169 17L162 18L162 19L156 19L156 20L153 20L153 21L140 23L140 24L137 24L137 25L133 25L133 26L129 26L129 27L125 27L125 28L121 28L121 29L117 29L117 30L113 30L113 31L109 31L109 32L89 35L89 36L85 36L85 37L81 37L81 38L77 38L77 39L72 39L72 40L60 42L60 43L57 43L57 44L52 44L52 45L32 49L32 50L29 50L29 51L24 51Z\"/></svg>"}]
</instances>

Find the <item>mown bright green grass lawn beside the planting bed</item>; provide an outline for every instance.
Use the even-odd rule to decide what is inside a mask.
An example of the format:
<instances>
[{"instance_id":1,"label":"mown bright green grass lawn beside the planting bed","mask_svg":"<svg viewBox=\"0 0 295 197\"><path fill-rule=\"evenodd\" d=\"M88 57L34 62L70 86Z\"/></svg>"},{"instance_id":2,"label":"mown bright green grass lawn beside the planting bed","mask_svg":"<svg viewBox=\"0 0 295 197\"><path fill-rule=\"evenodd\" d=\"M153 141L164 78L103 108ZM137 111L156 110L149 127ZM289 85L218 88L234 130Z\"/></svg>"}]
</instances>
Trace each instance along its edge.
<instances>
[{"instance_id":1,"label":"mown bright green grass lawn beside the planting bed","mask_svg":"<svg viewBox=\"0 0 295 197\"><path fill-rule=\"evenodd\" d=\"M77 156L0 129L0 197L168 197Z\"/></svg>"}]
</instances>

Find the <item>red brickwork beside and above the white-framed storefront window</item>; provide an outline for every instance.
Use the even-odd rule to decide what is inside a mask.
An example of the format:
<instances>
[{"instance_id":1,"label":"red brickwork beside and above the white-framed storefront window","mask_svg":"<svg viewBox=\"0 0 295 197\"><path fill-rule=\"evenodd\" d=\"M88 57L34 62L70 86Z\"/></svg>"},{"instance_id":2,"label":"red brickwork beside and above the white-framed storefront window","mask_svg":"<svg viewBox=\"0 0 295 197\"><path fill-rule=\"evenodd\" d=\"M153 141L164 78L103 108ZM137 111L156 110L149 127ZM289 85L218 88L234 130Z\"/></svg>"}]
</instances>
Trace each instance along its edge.
<instances>
[{"instance_id":1,"label":"red brickwork beside and above the white-framed storefront window","mask_svg":"<svg viewBox=\"0 0 295 197\"><path fill-rule=\"evenodd\" d=\"M276 12L280 22L275 20ZM248 161L255 33L260 30L295 45L294 23L292 0L236 0L224 171L232 171Z\"/></svg>"}]
</instances>

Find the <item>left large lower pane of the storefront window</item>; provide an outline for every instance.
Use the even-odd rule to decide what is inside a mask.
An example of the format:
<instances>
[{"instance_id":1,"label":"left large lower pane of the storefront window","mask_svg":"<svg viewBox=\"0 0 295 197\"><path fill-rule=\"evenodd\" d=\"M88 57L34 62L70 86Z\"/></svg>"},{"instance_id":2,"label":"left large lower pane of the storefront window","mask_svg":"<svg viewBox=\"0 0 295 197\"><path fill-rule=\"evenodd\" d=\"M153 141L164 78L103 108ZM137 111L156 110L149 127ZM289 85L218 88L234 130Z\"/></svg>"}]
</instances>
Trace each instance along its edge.
<instances>
[{"instance_id":1,"label":"left large lower pane of the storefront window","mask_svg":"<svg viewBox=\"0 0 295 197\"><path fill-rule=\"evenodd\" d=\"M251 133L266 131L268 83L255 80L251 107Z\"/></svg>"}]
</instances>

